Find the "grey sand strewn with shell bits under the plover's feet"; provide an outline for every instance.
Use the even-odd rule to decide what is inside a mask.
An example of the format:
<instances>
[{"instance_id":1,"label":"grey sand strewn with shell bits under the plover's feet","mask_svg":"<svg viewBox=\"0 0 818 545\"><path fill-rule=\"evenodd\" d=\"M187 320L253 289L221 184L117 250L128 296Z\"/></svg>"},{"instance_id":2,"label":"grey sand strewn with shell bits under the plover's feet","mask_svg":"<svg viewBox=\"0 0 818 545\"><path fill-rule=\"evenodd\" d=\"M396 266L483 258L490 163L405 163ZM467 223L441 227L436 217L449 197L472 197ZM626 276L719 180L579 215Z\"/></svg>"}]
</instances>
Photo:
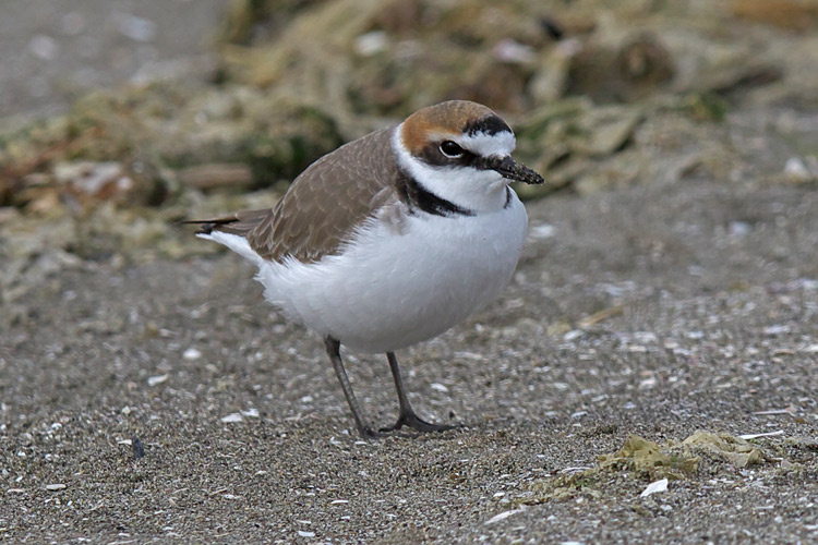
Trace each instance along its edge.
<instances>
[{"instance_id":1,"label":"grey sand strewn with shell bits under the plover's feet","mask_svg":"<svg viewBox=\"0 0 818 545\"><path fill-rule=\"evenodd\" d=\"M29 64L0 70L16 74L0 77L3 114L68 100L15 87L37 83L31 63L60 64L32 36L61 52L77 27L37 23L44 3L0 19L4 50L29 47ZM172 3L201 36L209 20ZM115 4L154 22L148 45L175 27ZM140 41L106 13L113 41ZM133 75L99 70L95 84ZM733 114L741 172L529 204L503 298L398 354L419 412L459 425L443 434L360 440L321 340L263 304L237 256L103 257L51 275L0 322L0 541L818 542L818 194L762 175L792 145L769 128L810 116ZM370 419L390 423L385 358L346 355ZM629 434L697 429L774 435L751 441L760 463L700 453L696 474L649 497L650 475L600 469Z\"/></svg>"}]
</instances>

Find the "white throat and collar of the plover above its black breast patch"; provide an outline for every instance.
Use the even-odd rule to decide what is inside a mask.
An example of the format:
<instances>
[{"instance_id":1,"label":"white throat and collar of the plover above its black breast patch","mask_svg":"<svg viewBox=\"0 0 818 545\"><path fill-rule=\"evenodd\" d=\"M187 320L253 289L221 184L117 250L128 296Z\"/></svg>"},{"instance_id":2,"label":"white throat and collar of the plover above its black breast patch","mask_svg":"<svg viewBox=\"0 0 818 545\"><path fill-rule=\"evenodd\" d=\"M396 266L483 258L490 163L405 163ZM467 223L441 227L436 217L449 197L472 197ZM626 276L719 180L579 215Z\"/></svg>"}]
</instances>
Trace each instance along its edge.
<instances>
[{"instance_id":1,"label":"white throat and collar of the plover above its black breast patch","mask_svg":"<svg viewBox=\"0 0 818 545\"><path fill-rule=\"evenodd\" d=\"M409 153L400 134L402 124L392 134L392 148L398 165L434 195L474 213L491 213L506 205L508 180L494 170L471 167L433 167Z\"/></svg>"}]
</instances>

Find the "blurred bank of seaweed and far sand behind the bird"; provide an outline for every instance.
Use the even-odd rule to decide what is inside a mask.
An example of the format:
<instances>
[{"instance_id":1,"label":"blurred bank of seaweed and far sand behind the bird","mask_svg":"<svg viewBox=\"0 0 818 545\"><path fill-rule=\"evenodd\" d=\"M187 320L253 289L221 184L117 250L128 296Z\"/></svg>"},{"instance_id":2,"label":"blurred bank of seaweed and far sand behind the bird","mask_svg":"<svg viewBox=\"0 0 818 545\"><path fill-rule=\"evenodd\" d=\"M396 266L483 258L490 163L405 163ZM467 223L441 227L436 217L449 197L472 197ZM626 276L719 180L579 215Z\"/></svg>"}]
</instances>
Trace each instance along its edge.
<instances>
[{"instance_id":1,"label":"blurred bank of seaweed and far sand behind the bird","mask_svg":"<svg viewBox=\"0 0 818 545\"><path fill-rule=\"evenodd\" d=\"M527 199L660 178L818 178L814 0L3 10L4 302L79 261L217 252L169 226L269 206L315 158L449 98L512 121L519 157L548 180L521 187Z\"/></svg>"}]
</instances>

